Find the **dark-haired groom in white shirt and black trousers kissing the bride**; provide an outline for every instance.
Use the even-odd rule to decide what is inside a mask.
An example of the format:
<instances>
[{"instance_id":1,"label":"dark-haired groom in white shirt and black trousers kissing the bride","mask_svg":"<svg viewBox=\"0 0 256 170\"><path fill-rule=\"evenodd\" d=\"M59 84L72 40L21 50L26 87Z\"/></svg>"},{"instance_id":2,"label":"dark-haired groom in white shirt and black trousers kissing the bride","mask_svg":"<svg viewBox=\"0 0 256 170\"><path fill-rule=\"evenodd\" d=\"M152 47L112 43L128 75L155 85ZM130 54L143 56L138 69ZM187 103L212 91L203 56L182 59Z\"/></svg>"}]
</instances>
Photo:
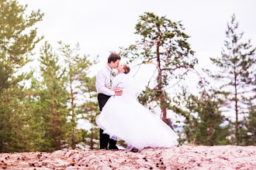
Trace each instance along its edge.
<instances>
[{"instance_id":1,"label":"dark-haired groom in white shirt and black trousers kissing the bride","mask_svg":"<svg viewBox=\"0 0 256 170\"><path fill-rule=\"evenodd\" d=\"M116 76L116 72L113 69L119 66L119 61L121 57L117 53L111 53L108 58L108 63L99 70L99 73L96 76L96 90L98 93L98 101L99 101L99 110L102 111L102 107L105 106L106 102L109 100L111 96L121 96L123 91L120 89L119 91L112 91L112 79ZM108 88L109 87L109 88ZM103 130L99 131L99 145L100 149L118 149L116 147L116 141L113 139L109 139L109 134L103 134Z\"/></svg>"}]
</instances>

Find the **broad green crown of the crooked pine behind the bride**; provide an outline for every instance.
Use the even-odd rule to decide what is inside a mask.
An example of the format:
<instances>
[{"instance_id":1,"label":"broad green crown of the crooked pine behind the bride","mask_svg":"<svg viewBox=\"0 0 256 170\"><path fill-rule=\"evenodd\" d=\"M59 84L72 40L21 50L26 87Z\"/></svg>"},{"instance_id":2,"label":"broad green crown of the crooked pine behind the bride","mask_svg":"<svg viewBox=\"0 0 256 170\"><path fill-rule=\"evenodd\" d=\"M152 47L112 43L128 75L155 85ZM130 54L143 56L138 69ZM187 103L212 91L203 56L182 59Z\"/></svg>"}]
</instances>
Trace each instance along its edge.
<instances>
[{"instance_id":1,"label":"broad green crown of the crooked pine behind the bride","mask_svg":"<svg viewBox=\"0 0 256 170\"><path fill-rule=\"evenodd\" d=\"M197 59L192 57L194 53L187 39L181 22L171 22L165 16L159 17L153 13L145 12L135 27L141 37L136 44L121 50L122 56L130 59L130 62L140 61L139 64L154 64L157 66L157 59L161 63L160 70L163 77L162 84L168 85L169 73L174 73L178 68L192 67ZM158 48L158 49L157 49Z\"/></svg>"}]
</instances>

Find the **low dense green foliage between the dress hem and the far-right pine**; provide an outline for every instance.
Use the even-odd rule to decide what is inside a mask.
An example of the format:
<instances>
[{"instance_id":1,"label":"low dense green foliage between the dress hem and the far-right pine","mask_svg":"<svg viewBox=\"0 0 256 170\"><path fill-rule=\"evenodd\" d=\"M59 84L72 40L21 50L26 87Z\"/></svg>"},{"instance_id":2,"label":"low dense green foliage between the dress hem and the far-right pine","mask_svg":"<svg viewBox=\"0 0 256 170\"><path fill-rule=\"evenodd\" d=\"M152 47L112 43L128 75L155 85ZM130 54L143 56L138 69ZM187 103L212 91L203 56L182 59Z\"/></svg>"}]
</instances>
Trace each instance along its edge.
<instances>
[{"instance_id":1,"label":"low dense green foliage between the dress hem and the far-right pine","mask_svg":"<svg viewBox=\"0 0 256 170\"><path fill-rule=\"evenodd\" d=\"M188 141L195 145L228 145L229 125L221 125L226 118L221 115L220 104L222 100L203 91L200 97L187 93L181 95L184 100L185 110L175 107L176 113L185 117L182 142Z\"/></svg>"}]
</instances>

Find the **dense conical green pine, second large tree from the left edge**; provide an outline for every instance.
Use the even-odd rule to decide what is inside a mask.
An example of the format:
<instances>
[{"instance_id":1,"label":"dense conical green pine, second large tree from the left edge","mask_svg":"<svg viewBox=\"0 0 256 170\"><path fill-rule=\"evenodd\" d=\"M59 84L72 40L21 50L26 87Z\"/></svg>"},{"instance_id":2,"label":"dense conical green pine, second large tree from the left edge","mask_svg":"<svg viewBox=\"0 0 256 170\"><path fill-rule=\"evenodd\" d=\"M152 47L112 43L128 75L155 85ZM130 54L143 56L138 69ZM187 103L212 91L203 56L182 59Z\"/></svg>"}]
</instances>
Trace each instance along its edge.
<instances>
[{"instance_id":1,"label":"dense conical green pine, second large tree from the left edge","mask_svg":"<svg viewBox=\"0 0 256 170\"><path fill-rule=\"evenodd\" d=\"M67 124L67 101L69 95L64 84L67 82L65 70L61 69L58 56L50 44L45 42L40 52L40 71L43 76L40 92L40 117L44 151L54 151L64 145L65 134L69 131Z\"/></svg>"}]
</instances>

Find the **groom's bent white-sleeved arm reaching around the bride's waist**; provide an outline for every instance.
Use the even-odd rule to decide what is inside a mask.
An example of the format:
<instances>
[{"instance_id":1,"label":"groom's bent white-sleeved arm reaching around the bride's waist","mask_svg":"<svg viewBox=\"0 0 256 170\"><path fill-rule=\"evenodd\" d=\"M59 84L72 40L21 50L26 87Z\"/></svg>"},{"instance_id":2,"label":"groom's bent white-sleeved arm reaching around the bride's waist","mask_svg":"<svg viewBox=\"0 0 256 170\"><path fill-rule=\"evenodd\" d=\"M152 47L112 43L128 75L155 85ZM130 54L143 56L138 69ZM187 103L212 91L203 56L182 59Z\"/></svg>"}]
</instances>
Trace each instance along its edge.
<instances>
[{"instance_id":1,"label":"groom's bent white-sleeved arm reaching around the bride's waist","mask_svg":"<svg viewBox=\"0 0 256 170\"><path fill-rule=\"evenodd\" d=\"M96 82L95 82L97 93L104 93L107 96L114 96L115 91L109 90L109 88L105 87L105 80L106 80L106 77L104 73L100 71L96 76Z\"/></svg>"}]
</instances>

